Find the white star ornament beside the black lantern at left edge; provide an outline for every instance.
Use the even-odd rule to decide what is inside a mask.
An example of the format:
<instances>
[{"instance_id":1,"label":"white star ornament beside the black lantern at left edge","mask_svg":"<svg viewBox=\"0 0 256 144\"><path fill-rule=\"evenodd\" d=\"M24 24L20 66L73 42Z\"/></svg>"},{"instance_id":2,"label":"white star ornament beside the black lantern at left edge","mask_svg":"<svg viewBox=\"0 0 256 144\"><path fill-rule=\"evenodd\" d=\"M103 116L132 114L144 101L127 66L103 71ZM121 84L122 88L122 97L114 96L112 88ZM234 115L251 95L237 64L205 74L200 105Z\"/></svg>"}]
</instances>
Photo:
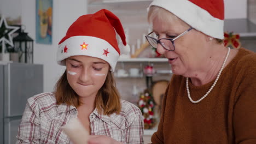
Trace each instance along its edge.
<instances>
[{"instance_id":1,"label":"white star ornament beside the black lantern at left edge","mask_svg":"<svg viewBox=\"0 0 256 144\"><path fill-rule=\"evenodd\" d=\"M11 34L17 31L19 27L8 26L4 17L0 20L0 43L7 43L13 46L13 38Z\"/></svg>"}]
</instances>

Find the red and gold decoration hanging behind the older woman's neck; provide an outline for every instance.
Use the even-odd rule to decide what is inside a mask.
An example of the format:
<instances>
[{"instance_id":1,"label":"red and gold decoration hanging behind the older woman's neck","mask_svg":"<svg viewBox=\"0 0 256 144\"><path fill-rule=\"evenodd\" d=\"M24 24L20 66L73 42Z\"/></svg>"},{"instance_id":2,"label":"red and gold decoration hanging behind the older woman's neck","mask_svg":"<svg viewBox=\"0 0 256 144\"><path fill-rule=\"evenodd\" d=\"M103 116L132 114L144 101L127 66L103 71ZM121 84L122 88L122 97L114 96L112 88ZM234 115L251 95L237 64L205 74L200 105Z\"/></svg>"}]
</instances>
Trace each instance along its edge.
<instances>
[{"instance_id":1,"label":"red and gold decoration hanging behind the older woman's neck","mask_svg":"<svg viewBox=\"0 0 256 144\"><path fill-rule=\"evenodd\" d=\"M233 32L224 32L224 45L226 47L232 47L233 49L239 49L241 47L240 35Z\"/></svg>"}]
</instances>

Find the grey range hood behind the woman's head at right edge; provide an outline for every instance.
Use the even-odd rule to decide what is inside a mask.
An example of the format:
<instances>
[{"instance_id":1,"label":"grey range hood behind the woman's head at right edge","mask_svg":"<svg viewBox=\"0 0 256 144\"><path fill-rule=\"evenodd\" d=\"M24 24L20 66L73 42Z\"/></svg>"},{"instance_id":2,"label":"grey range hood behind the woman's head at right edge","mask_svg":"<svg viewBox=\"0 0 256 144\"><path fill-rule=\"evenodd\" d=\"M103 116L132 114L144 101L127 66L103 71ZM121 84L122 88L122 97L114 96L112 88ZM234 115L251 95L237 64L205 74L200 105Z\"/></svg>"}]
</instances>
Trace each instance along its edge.
<instances>
[{"instance_id":1,"label":"grey range hood behind the woman's head at right edge","mask_svg":"<svg viewBox=\"0 0 256 144\"><path fill-rule=\"evenodd\" d=\"M240 37L256 37L256 25L248 19L226 19L224 31L238 33Z\"/></svg>"}]
</instances>

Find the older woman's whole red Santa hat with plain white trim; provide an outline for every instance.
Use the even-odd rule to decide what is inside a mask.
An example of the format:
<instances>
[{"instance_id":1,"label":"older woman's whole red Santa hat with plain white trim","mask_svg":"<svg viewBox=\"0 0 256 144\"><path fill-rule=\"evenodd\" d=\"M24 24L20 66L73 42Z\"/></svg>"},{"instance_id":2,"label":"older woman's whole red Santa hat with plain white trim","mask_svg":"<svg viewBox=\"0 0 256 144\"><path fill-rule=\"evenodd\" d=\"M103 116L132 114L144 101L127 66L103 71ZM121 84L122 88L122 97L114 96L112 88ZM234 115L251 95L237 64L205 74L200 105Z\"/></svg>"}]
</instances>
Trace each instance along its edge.
<instances>
[{"instance_id":1,"label":"older woman's whole red Santa hat with plain white trim","mask_svg":"<svg viewBox=\"0 0 256 144\"><path fill-rule=\"evenodd\" d=\"M149 7L152 5L170 11L202 33L224 39L223 0L154 0Z\"/></svg>"}]
</instances>

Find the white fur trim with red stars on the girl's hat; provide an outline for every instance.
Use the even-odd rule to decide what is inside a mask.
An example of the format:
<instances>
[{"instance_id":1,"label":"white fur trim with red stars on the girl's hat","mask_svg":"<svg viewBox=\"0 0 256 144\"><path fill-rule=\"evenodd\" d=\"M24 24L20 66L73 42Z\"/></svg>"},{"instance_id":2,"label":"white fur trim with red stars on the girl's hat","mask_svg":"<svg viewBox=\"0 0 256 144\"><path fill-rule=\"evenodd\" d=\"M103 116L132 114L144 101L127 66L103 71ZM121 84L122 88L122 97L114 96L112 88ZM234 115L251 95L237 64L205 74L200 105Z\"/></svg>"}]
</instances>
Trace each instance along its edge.
<instances>
[{"instance_id":1,"label":"white fur trim with red stars on the girl's hat","mask_svg":"<svg viewBox=\"0 0 256 144\"><path fill-rule=\"evenodd\" d=\"M88 44L87 49L82 50L80 45L83 45L83 43ZM65 46L67 50L64 50ZM109 53L103 55L104 50L107 50ZM114 71L120 55L106 40L90 36L74 36L59 44L57 63L66 65L63 60L71 56L91 56L103 59L109 63L111 70Z\"/></svg>"}]
</instances>

